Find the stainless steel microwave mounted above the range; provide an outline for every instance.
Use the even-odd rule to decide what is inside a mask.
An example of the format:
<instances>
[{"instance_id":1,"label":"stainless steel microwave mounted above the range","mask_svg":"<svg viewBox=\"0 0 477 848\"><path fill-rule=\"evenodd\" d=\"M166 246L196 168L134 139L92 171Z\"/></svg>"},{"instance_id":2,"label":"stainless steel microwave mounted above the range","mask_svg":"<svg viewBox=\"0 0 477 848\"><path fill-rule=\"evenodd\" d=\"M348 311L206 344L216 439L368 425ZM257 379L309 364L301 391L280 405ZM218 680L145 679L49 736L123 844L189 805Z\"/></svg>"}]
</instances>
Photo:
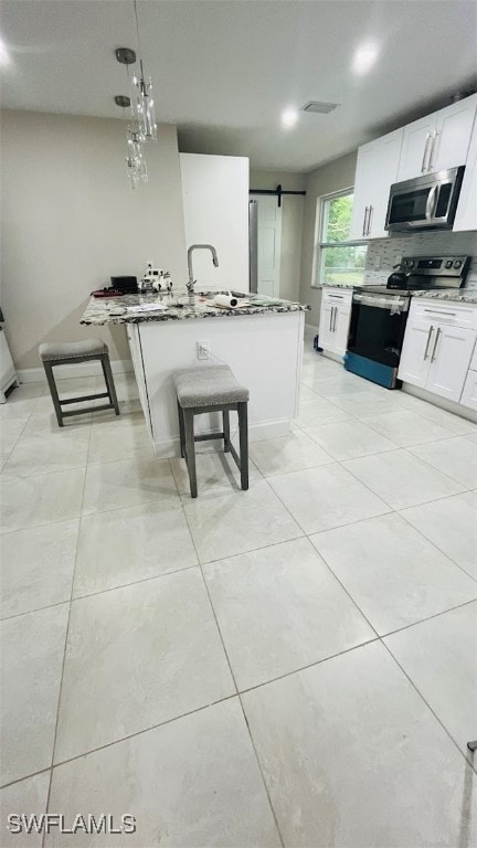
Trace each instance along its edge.
<instances>
[{"instance_id":1,"label":"stainless steel microwave mounted above the range","mask_svg":"<svg viewBox=\"0 0 477 848\"><path fill-rule=\"evenodd\" d=\"M385 229L452 230L464 170L460 166L395 182L391 186Z\"/></svg>"}]
</instances>

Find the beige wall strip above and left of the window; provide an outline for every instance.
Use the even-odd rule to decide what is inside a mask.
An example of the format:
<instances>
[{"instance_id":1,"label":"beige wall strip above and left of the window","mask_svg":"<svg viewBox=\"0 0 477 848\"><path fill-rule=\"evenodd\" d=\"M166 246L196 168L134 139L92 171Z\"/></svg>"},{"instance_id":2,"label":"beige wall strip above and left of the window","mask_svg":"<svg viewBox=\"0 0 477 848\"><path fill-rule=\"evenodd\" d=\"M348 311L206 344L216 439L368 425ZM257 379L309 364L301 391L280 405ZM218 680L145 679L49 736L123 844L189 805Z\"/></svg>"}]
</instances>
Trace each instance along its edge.
<instances>
[{"instance_id":1,"label":"beige wall strip above and left of the window","mask_svg":"<svg viewBox=\"0 0 477 848\"><path fill-rule=\"evenodd\" d=\"M306 321L314 327L318 327L321 304L321 290L311 288L317 200L324 194L354 186L356 161L357 153L348 153L306 174L299 299L311 306L311 311L306 314Z\"/></svg>"}]
</instances>

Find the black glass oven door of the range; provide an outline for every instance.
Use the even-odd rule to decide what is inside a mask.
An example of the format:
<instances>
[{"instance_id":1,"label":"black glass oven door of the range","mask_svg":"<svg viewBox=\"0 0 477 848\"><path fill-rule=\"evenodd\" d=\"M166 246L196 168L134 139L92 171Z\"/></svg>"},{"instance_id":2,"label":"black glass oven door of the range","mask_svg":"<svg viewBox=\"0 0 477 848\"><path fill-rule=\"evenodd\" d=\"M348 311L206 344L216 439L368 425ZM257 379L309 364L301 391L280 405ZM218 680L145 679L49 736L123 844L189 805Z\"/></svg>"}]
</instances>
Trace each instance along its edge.
<instances>
[{"instance_id":1,"label":"black glass oven door of the range","mask_svg":"<svg viewBox=\"0 0 477 848\"><path fill-rule=\"evenodd\" d=\"M410 298L354 292L348 352L398 368Z\"/></svg>"}]
</instances>

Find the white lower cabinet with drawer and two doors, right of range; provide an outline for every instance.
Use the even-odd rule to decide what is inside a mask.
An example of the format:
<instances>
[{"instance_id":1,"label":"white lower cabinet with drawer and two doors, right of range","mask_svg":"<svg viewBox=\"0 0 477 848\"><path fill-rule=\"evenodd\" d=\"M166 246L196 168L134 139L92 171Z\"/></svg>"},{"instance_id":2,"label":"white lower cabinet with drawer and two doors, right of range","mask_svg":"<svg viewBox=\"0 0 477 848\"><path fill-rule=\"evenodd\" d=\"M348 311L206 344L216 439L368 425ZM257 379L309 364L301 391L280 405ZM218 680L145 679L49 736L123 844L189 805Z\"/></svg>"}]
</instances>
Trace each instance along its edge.
<instances>
[{"instance_id":1,"label":"white lower cabinet with drawer and two doors, right of range","mask_svg":"<svg viewBox=\"0 0 477 848\"><path fill-rule=\"evenodd\" d=\"M458 403L477 336L477 308L413 300L398 377Z\"/></svg>"}]
</instances>

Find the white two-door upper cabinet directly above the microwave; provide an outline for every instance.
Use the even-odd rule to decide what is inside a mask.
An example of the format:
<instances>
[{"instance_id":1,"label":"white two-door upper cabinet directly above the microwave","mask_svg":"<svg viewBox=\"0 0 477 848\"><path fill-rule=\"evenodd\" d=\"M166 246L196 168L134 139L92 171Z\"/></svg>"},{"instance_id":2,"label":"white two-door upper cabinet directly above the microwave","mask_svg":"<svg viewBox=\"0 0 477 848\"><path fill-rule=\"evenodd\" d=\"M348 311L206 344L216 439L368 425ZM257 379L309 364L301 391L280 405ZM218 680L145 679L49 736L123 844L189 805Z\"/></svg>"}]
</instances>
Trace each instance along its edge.
<instances>
[{"instance_id":1,"label":"white two-door upper cabinet directly above the microwave","mask_svg":"<svg viewBox=\"0 0 477 848\"><path fill-rule=\"evenodd\" d=\"M404 127L398 182L465 165L476 109L473 94Z\"/></svg>"}]
</instances>

